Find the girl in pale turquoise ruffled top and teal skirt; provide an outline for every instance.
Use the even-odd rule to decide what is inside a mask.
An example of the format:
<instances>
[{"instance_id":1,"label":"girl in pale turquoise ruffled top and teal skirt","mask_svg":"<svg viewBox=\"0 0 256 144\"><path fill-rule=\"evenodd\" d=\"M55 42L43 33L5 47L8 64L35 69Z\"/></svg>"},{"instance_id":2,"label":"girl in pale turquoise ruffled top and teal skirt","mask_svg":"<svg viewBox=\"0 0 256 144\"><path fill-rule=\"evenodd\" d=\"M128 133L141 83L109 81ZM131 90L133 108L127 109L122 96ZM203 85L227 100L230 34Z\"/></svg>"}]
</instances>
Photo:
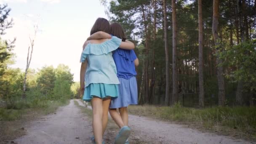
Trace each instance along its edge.
<instances>
[{"instance_id":1,"label":"girl in pale turquoise ruffled top and teal skirt","mask_svg":"<svg viewBox=\"0 0 256 144\"><path fill-rule=\"evenodd\" d=\"M98 18L91 29L91 39L101 34L96 32L110 33L110 24L107 19ZM104 35L104 34L102 34ZM90 39L89 38L89 39ZM80 62L80 91L83 100L91 101L93 108L93 142L104 144L102 141L104 131L107 127L108 109L111 97L117 97L119 80L117 69L112 57L112 51L118 47L133 49L131 42L122 42L120 38L88 40L83 45ZM124 137L128 130L121 133Z\"/></svg>"}]
</instances>

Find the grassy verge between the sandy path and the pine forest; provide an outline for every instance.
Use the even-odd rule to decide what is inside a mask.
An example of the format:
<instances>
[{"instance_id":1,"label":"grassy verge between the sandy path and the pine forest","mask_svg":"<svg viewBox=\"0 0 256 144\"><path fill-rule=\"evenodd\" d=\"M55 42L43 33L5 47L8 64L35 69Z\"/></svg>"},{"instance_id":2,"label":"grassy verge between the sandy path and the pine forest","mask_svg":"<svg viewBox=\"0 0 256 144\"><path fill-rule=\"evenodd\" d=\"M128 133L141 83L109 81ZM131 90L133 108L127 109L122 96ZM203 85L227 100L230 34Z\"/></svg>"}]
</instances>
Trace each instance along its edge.
<instances>
[{"instance_id":1,"label":"grassy verge between the sandy path and the pine forest","mask_svg":"<svg viewBox=\"0 0 256 144\"><path fill-rule=\"evenodd\" d=\"M153 117L181 124L193 124L197 128L221 131L222 134L248 136L256 139L256 107L211 107L195 109L176 104L173 107L152 105L129 106L133 115Z\"/></svg>"}]
</instances>

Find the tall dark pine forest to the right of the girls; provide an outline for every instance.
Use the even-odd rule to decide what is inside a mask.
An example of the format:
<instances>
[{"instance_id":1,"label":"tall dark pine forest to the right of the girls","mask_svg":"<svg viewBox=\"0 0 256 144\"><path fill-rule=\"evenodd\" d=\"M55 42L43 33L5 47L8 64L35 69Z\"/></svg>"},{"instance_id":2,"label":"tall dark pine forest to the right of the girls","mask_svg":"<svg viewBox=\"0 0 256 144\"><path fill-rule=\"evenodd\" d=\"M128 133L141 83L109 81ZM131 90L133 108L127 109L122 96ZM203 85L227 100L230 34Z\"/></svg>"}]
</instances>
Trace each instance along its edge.
<instances>
[{"instance_id":1,"label":"tall dark pine forest to the right of the girls","mask_svg":"<svg viewBox=\"0 0 256 144\"><path fill-rule=\"evenodd\" d=\"M136 43L139 104L255 105L255 0L101 3Z\"/></svg>"}]
</instances>

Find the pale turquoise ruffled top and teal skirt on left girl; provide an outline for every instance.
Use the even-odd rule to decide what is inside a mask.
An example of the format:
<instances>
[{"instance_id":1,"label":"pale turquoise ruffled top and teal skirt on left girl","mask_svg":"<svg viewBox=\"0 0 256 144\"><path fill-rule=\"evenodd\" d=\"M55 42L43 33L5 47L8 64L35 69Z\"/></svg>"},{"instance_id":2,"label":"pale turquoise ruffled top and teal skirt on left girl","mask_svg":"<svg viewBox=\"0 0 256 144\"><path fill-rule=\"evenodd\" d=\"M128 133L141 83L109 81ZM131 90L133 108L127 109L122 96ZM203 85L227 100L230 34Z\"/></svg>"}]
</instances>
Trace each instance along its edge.
<instances>
[{"instance_id":1,"label":"pale turquoise ruffled top and teal skirt on left girl","mask_svg":"<svg viewBox=\"0 0 256 144\"><path fill-rule=\"evenodd\" d=\"M118 96L117 68L112 57L121 44L121 39L113 36L100 44L88 43L81 54L80 62L88 60L85 72L85 91L83 100L91 101L96 96L104 99L107 96Z\"/></svg>"}]
</instances>

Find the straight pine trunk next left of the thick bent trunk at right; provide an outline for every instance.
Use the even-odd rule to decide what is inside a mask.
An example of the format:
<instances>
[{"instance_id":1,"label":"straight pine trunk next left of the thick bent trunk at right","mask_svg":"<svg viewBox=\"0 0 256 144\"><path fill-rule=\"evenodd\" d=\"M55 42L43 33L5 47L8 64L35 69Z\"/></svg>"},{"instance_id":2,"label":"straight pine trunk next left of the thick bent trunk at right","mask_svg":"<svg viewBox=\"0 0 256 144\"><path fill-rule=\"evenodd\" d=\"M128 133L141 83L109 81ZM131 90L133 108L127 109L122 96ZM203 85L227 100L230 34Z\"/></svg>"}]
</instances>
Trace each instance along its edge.
<instances>
[{"instance_id":1,"label":"straight pine trunk next left of the thick bent trunk at right","mask_svg":"<svg viewBox=\"0 0 256 144\"><path fill-rule=\"evenodd\" d=\"M202 0L198 0L198 35L199 35L199 106L204 107L204 87L203 87L203 18Z\"/></svg>"}]
</instances>

